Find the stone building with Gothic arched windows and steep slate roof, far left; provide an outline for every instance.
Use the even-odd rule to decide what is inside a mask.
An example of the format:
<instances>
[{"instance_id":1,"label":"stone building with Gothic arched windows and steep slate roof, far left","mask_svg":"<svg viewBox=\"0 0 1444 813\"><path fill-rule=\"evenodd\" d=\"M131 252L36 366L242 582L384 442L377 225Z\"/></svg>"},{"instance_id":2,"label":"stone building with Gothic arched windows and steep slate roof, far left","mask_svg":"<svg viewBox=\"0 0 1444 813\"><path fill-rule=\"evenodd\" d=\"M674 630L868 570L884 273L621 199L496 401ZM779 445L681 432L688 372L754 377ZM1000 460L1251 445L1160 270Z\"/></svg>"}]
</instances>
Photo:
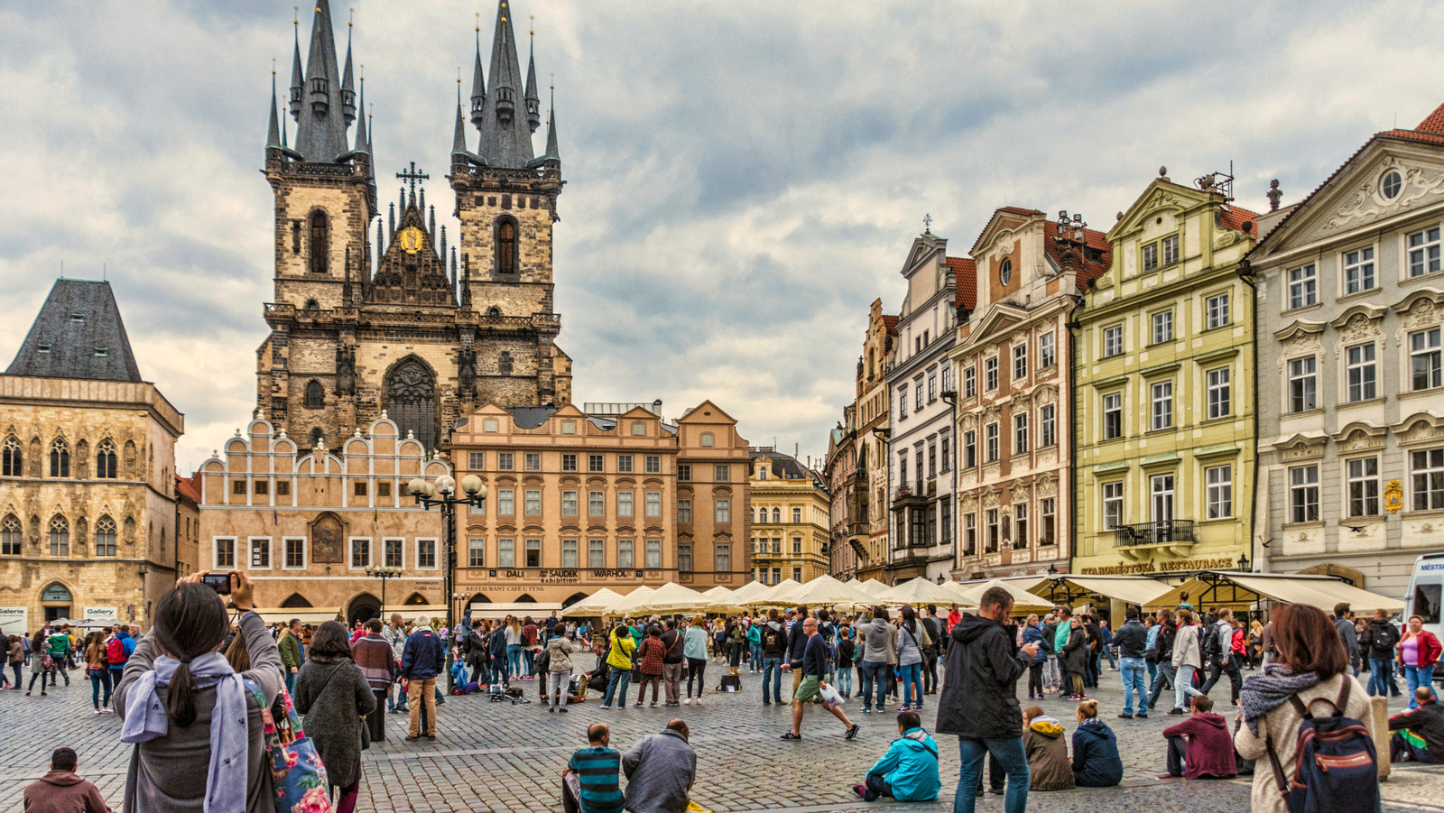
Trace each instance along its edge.
<instances>
[{"instance_id":1,"label":"stone building with Gothic arched windows and steep slate roof, far left","mask_svg":"<svg viewBox=\"0 0 1444 813\"><path fill-rule=\"evenodd\" d=\"M175 583L185 417L140 377L110 283L59 280L0 375L0 621L136 621Z\"/></svg>"}]
</instances>

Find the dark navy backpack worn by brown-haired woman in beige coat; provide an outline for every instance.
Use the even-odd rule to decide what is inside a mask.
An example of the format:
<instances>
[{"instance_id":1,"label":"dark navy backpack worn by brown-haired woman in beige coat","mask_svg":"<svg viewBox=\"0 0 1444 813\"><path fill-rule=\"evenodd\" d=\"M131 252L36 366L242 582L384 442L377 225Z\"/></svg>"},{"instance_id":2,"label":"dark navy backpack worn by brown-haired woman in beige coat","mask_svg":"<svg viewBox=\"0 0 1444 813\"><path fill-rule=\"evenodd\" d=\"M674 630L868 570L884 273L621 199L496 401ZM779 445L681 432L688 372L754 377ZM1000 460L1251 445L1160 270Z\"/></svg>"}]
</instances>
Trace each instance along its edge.
<instances>
[{"instance_id":1,"label":"dark navy backpack worn by brown-haired woman in beige coat","mask_svg":"<svg viewBox=\"0 0 1444 813\"><path fill-rule=\"evenodd\" d=\"M1369 728L1344 716L1349 706L1349 686L1344 677L1339 700L1315 697L1334 708L1333 716L1315 718L1298 696L1289 697L1302 719L1295 744L1294 781L1284 774L1284 765L1274 751L1274 736L1268 738L1268 758L1274 764L1274 780L1284 796L1289 813L1375 813L1379 810L1379 760Z\"/></svg>"}]
</instances>

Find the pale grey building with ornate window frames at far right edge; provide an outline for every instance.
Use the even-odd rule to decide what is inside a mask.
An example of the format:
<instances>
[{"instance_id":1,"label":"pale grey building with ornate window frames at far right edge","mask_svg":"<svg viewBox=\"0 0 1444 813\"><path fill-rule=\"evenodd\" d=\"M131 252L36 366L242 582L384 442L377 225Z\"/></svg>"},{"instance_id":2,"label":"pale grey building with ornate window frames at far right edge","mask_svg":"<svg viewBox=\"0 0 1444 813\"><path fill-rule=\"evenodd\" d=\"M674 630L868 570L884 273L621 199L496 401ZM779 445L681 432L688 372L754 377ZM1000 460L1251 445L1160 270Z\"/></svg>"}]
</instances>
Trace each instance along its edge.
<instances>
[{"instance_id":1,"label":"pale grey building with ornate window frames at far right edge","mask_svg":"<svg viewBox=\"0 0 1444 813\"><path fill-rule=\"evenodd\" d=\"M1444 107L1259 225L1255 555L1402 595L1444 546Z\"/></svg>"}]
</instances>

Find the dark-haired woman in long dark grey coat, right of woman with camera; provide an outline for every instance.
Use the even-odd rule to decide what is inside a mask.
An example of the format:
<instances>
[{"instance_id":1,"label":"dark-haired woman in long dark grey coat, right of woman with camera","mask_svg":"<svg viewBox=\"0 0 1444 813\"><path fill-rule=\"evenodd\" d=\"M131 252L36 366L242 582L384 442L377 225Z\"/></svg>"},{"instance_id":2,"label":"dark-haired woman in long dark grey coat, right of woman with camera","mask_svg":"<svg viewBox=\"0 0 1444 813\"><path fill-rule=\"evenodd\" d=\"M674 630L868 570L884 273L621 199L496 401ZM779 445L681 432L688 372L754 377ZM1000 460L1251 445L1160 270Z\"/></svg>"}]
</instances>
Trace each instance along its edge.
<instances>
[{"instance_id":1,"label":"dark-haired woman in long dark grey coat, right of woman with camera","mask_svg":"<svg viewBox=\"0 0 1444 813\"><path fill-rule=\"evenodd\" d=\"M326 621L310 637L310 657L296 674L296 710L306 715L306 736L326 765L326 783L339 788L336 813L351 813L361 788L362 718L375 710L375 695L339 621Z\"/></svg>"}]
</instances>

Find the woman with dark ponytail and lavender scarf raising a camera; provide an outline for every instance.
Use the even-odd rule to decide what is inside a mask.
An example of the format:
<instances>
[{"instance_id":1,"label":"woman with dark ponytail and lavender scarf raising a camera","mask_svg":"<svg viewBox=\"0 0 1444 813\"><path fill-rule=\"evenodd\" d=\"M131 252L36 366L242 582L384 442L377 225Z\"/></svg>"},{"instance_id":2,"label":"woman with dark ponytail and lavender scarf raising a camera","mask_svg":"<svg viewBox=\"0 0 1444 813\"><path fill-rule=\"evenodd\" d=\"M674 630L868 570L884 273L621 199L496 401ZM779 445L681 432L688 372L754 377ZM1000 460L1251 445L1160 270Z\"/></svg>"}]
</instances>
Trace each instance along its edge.
<instances>
[{"instance_id":1,"label":"woman with dark ponytail and lavender scarf raising a camera","mask_svg":"<svg viewBox=\"0 0 1444 813\"><path fill-rule=\"evenodd\" d=\"M230 622L222 598L201 583L204 576L192 573L160 596L155 627L136 644L116 689L120 739L136 744L124 810L276 809L261 708L217 651ZM231 570L230 599L241 611L240 634L254 666L244 676L269 706L283 686L280 650L251 611L251 592L245 573Z\"/></svg>"}]
</instances>

